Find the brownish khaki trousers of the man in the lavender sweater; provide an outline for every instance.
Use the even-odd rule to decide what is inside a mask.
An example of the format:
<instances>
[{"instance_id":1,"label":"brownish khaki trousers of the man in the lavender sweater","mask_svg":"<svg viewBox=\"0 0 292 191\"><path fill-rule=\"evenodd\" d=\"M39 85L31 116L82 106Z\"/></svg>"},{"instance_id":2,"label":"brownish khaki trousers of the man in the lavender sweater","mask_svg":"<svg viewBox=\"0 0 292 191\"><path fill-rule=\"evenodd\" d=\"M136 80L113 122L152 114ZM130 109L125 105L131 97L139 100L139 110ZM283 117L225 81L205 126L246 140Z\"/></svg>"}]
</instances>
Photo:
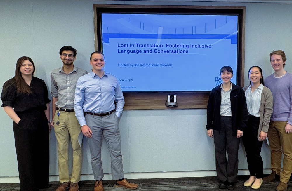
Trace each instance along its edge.
<instances>
[{"instance_id":1,"label":"brownish khaki trousers of the man in the lavender sweater","mask_svg":"<svg viewBox=\"0 0 292 191\"><path fill-rule=\"evenodd\" d=\"M280 174L280 181L288 183L292 172L292 133L285 132L287 121L270 121L267 133L271 146L271 168ZM282 152L284 154L281 171Z\"/></svg>"}]
</instances>

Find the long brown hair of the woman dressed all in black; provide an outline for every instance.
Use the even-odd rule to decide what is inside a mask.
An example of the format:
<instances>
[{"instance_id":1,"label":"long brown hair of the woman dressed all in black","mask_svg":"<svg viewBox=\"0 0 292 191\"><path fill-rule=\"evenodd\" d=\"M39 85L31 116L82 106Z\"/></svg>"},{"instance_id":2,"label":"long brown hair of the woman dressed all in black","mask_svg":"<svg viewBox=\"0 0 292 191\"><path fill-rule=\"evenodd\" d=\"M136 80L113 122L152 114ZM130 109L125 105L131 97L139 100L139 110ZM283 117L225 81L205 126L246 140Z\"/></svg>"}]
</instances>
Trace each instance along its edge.
<instances>
[{"instance_id":1,"label":"long brown hair of the woman dressed all in black","mask_svg":"<svg viewBox=\"0 0 292 191\"><path fill-rule=\"evenodd\" d=\"M21 72L20 72L20 66L21 66L22 62L25 60L32 62L32 65L34 67L34 71L36 69L34 66L34 62L28 56L22 56L22 57L18 58L18 60L16 62L16 69L15 69L15 83L16 83L17 93L30 94L30 93L32 93L32 90L30 89L29 85L27 83L25 83L24 79L22 78ZM34 76L34 71L32 72L32 76Z\"/></svg>"}]
</instances>

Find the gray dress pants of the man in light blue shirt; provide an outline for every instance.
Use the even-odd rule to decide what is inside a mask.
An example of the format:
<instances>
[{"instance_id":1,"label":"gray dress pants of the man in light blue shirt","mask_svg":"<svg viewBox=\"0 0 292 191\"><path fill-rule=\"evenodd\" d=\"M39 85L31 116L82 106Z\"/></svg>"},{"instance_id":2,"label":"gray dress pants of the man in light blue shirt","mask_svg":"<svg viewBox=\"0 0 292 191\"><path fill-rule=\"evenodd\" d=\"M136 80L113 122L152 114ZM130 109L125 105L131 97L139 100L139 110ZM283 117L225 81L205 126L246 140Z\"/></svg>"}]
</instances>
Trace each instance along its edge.
<instances>
[{"instance_id":1,"label":"gray dress pants of the man in light blue shirt","mask_svg":"<svg viewBox=\"0 0 292 191\"><path fill-rule=\"evenodd\" d=\"M117 117L114 112L102 117L86 113L85 121L93 133L92 138L87 138L87 141L91 154L91 166L95 180L101 180L103 178L101 164L102 136L109 147L112 164L112 179L119 180L124 178L119 117Z\"/></svg>"}]
</instances>

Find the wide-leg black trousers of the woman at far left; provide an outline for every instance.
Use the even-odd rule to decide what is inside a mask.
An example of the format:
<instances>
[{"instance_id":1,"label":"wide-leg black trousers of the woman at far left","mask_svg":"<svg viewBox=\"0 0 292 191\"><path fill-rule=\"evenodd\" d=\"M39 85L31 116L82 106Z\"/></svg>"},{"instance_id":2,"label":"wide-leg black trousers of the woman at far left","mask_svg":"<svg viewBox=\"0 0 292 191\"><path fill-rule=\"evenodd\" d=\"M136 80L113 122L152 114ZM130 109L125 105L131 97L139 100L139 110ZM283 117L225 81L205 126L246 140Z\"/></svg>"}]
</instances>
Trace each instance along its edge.
<instances>
[{"instance_id":1,"label":"wide-leg black trousers of the woman at far left","mask_svg":"<svg viewBox=\"0 0 292 191\"><path fill-rule=\"evenodd\" d=\"M49 181L49 126L44 110L16 112L13 122L21 191L37 191Z\"/></svg>"}]
</instances>

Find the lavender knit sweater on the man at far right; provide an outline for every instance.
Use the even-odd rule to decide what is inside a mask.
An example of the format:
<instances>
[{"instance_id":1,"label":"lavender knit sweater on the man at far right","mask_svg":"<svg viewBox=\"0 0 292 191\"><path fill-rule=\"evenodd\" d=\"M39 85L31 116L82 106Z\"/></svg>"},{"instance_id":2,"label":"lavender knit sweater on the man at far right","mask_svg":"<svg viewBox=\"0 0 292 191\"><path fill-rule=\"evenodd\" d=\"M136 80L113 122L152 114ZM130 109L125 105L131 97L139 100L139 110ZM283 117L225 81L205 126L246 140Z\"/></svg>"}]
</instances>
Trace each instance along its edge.
<instances>
[{"instance_id":1,"label":"lavender knit sweater on the man at far right","mask_svg":"<svg viewBox=\"0 0 292 191\"><path fill-rule=\"evenodd\" d=\"M292 74L276 78L274 74L266 77L265 86L273 94L274 105L271 121L288 121L292 125Z\"/></svg>"}]
</instances>

